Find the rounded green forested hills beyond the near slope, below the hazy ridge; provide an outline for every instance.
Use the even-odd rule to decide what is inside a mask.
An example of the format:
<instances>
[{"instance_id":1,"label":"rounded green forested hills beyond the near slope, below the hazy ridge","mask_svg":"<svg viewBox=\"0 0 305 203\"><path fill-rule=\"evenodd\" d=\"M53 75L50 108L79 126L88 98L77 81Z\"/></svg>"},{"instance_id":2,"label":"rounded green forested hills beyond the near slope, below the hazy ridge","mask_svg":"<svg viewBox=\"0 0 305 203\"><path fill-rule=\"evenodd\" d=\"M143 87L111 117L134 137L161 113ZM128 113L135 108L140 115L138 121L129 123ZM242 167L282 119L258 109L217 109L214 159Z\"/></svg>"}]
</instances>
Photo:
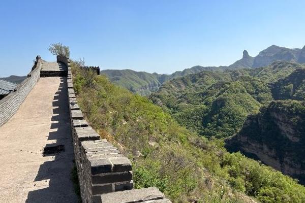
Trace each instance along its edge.
<instances>
[{"instance_id":1,"label":"rounded green forested hills beyond the near slope, below the hazy ridge","mask_svg":"<svg viewBox=\"0 0 305 203\"><path fill-rule=\"evenodd\" d=\"M201 136L226 138L239 131L249 114L268 105L272 95L303 99L302 67L277 61L258 69L203 71L165 82L150 99Z\"/></svg>"}]
</instances>

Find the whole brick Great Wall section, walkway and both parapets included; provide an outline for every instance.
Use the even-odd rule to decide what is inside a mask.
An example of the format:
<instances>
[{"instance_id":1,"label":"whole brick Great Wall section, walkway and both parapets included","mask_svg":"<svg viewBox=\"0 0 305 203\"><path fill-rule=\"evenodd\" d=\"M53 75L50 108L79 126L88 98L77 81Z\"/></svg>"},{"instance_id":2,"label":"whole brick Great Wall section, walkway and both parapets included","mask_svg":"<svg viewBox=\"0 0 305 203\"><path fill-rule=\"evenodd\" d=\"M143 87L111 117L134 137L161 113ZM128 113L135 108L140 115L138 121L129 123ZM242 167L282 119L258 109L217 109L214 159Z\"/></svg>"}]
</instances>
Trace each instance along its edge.
<instances>
[{"instance_id":1,"label":"whole brick Great Wall section, walkway and both parapets included","mask_svg":"<svg viewBox=\"0 0 305 203\"><path fill-rule=\"evenodd\" d=\"M77 202L74 162L83 203L170 202L155 187L133 189L131 161L84 119L72 80L69 58L38 56L0 100L0 202Z\"/></svg>"}]
</instances>

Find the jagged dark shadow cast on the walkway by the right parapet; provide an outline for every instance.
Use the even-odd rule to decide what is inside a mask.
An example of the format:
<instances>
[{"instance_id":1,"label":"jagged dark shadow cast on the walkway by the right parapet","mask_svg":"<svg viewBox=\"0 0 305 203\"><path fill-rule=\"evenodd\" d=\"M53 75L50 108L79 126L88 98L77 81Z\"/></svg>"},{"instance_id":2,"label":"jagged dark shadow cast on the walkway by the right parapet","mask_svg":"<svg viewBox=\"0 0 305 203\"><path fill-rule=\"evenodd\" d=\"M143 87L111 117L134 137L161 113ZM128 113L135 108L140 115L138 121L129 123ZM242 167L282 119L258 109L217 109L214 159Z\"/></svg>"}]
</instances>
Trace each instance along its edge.
<instances>
[{"instance_id":1,"label":"jagged dark shadow cast on the walkway by the right parapet","mask_svg":"<svg viewBox=\"0 0 305 203\"><path fill-rule=\"evenodd\" d=\"M47 87L46 87L47 88ZM47 144L42 156L53 156L54 160L40 165L35 178L38 190L29 191L27 203L62 203L77 202L77 196L71 181L73 148L68 106L67 78L60 78L58 90L53 98L52 124L48 140L56 141ZM44 136L43 134L41 136ZM48 187L46 183L49 181ZM43 185L39 187L40 185Z\"/></svg>"}]
</instances>

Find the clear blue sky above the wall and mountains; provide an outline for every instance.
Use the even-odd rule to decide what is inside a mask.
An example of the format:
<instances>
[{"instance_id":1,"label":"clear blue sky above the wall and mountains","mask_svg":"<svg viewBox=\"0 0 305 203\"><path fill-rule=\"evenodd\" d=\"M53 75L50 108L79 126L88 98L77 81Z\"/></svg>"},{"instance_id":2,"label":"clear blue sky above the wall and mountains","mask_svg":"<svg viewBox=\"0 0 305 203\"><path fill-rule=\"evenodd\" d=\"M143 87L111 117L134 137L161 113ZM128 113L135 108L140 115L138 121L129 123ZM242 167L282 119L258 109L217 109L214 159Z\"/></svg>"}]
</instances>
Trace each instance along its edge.
<instances>
[{"instance_id":1,"label":"clear blue sky above the wall and mountains","mask_svg":"<svg viewBox=\"0 0 305 203\"><path fill-rule=\"evenodd\" d=\"M26 75L33 59L71 58L101 69L172 73L229 65L244 49L305 45L305 1L3 1L0 75Z\"/></svg>"}]
</instances>

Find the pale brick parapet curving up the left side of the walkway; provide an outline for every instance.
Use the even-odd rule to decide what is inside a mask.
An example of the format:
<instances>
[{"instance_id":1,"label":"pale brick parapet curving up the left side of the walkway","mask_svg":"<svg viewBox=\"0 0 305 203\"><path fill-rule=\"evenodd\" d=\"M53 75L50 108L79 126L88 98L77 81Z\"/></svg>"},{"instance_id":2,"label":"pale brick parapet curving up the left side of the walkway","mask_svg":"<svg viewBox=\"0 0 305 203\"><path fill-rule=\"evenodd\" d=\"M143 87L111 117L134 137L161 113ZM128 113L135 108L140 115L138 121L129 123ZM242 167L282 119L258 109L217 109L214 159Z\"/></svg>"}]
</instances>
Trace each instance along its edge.
<instances>
[{"instance_id":1,"label":"pale brick parapet curving up the left side of the walkway","mask_svg":"<svg viewBox=\"0 0 305 203\"><path fill-rule=\"evenodd\" d=\"M37 61L33 70L27 75L27 78L16 87L16 91L12 91L0 100L0 126L6 123L16 113L22 101L39 80L42 59L40 57L37 57L36 59Z\"/></svg>"}]
</instances>

